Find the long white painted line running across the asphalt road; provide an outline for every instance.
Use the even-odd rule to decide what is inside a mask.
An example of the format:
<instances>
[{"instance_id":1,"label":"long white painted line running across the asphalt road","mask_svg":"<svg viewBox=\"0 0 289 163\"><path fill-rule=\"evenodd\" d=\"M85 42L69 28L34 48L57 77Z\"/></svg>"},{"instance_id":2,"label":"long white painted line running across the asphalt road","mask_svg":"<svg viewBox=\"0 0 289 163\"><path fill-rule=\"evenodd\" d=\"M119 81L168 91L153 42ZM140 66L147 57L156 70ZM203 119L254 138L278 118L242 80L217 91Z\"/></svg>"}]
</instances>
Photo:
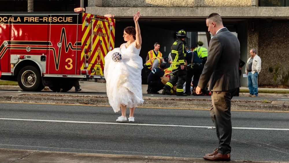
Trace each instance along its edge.
<instances>
[{"instance_id":1,"label":"long white painted line running across the asphalt road","mask_svg":"<svg viewBox=\"0 0 289 163\"><path fill-rule=\"evenodd\" d=\"M67 120L36 120L36 119L12 119L12 118L0 118L0 120L24 120L24 121L40 121L40 122L66 122L66 123L90 123L90 124L123 124L123 125L141 125L141 126L170 126L170 127L215 128L215 127L211 127L211 126L185 126L185 125L172 125L172 124L138 124L138 123L85 122L85 121L67 121ZM286 131L289 131L289 129L251 128L251 127L232 127L232 129L286 130Z\"/></svg>"}]
</instances>

